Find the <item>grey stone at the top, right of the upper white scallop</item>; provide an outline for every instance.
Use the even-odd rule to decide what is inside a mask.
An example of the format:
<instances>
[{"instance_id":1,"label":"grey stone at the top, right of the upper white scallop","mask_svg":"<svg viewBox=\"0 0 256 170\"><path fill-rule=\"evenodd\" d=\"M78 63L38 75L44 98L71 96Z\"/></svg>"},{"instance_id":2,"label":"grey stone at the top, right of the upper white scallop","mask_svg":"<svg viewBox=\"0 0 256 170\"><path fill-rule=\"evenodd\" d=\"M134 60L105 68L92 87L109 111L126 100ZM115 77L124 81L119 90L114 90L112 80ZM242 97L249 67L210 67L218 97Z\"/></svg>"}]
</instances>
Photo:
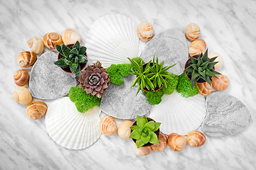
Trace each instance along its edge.
<instances>
[{"instance_id":1,"label":"grey stone at the top, right of the upper white scallop","mask_svg":"<svg viewBox=\"0 0 256 170\"><path fill-rule=\"evenodd\" d=\"M164 66L176 64L168 70L169 72L182 74L188 60L188 45L184 33L178 28L173 28L154 35L154 38L147 42L141 57L144 62L149 62L154 55L159 57L159 62L164 61Z\"/></svg>"}]
</instances>

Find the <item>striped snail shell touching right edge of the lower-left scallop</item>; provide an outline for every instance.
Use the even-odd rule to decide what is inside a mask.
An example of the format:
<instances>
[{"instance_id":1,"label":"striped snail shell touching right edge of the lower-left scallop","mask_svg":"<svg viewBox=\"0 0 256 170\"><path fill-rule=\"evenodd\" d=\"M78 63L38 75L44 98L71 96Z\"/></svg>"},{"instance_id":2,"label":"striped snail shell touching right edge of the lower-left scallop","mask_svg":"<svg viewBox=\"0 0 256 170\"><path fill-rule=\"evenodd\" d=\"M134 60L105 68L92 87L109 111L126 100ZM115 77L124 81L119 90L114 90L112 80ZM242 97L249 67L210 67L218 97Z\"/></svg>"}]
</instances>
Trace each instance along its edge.
<instances>
[{"instance_id":1,"label":"striped snail shell touching right edge of the lower-left scallop","mask_svg":"<svg viewBox=\"0 0 256 170\"><path fill-rule=\"evenodd\" d=\"M100 131L106 136L114 135L117 132L117 123L112 116L105 115L100 120Z\"/></svg>"}]
</instances>

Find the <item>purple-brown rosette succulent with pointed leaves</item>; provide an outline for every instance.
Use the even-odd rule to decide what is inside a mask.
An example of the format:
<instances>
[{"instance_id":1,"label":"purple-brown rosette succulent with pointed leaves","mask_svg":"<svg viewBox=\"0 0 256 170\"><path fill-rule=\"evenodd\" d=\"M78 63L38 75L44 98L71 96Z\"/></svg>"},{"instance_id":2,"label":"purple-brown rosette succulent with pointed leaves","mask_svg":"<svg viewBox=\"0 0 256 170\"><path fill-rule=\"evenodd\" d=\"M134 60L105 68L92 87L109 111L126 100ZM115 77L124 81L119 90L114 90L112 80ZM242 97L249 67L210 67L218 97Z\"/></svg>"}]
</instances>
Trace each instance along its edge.
<instances>
[{"instance_id":1,"label":"purple-brown rosette succulent with pointed leaves","mask_svg":"<svg viewBox=\"0 0 256 170\"><path fill-rule=\"evenodd\" d=\"M110 85L110 75L102 64L97 61L93 65L88 66L81 72L78 80L83 91L92 96L102 97L103 92Z\"/></svg>"}]
</instances>

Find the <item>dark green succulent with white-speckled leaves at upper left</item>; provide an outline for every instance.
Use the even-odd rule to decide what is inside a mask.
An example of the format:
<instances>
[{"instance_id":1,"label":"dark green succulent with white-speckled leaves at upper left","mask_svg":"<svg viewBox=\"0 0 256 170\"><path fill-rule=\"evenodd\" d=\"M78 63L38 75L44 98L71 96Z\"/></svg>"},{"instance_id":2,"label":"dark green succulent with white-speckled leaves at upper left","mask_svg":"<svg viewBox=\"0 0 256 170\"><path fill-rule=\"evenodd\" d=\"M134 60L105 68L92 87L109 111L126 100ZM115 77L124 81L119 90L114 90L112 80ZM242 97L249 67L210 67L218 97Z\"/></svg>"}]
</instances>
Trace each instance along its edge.
<instances>
[{"instance_id":1,"label":"dark green succulent with white-speckled leaves at upper left","mask_svg":"<svg viewBox=\"0 0 256 170\"><path fill-rule=\"evenodd\" d=\"M80 73L80 64L85 64L88 61L85 56L86 47L80 47L80 43L77 41L72 50L64 44L56 45L56 49L63 57L55 61L54 64L62 68L69 67L70 71L77 76Z\"/></svg>"}]
</instances>

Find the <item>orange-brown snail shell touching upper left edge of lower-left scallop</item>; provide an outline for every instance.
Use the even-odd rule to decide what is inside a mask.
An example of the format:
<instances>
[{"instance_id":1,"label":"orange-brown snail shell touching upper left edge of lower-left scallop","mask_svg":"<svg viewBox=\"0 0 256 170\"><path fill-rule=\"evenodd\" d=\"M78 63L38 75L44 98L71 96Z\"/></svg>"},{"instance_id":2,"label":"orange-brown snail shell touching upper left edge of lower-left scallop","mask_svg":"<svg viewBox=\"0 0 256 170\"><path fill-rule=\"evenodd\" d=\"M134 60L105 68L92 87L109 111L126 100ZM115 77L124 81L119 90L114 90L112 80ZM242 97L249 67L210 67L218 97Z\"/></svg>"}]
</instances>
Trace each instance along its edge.
<instances>
[{"instance_id":1,"label":"orange-brown snail shell touching upper left edge of lower-left scallop","mask_svg":"<svg viewBox=\"0 0 256 170\"><path fill-rule=\"evenodd\" d=\"M43 101L33 101L26 108L28 118L33 120L40 119L47 111L47 105Z\"/></svg>"}]
</instances>

